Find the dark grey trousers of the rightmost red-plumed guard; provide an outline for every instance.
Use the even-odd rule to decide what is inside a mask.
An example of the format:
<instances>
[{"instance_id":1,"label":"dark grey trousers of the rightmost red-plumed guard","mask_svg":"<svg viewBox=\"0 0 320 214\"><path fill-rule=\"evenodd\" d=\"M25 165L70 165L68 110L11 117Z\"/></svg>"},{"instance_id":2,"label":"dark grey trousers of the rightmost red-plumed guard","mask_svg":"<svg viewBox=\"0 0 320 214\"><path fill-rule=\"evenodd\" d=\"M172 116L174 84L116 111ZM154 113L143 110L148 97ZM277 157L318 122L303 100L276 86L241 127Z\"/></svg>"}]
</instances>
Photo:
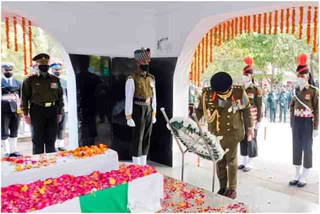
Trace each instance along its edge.
<instances>
[{"instance_id":1,"label":"dark grey trousers of the rightmost red-plumed guard","mask_svg":"<svg viewBox=\"0 0 320 214\"><path fill-rule=\"evenodd\" d=\"M312 119L294 116L292 121L293 165L302 164L303 152L303 167L312 167L312 142Z\"/></svg>"}]
</instances>

